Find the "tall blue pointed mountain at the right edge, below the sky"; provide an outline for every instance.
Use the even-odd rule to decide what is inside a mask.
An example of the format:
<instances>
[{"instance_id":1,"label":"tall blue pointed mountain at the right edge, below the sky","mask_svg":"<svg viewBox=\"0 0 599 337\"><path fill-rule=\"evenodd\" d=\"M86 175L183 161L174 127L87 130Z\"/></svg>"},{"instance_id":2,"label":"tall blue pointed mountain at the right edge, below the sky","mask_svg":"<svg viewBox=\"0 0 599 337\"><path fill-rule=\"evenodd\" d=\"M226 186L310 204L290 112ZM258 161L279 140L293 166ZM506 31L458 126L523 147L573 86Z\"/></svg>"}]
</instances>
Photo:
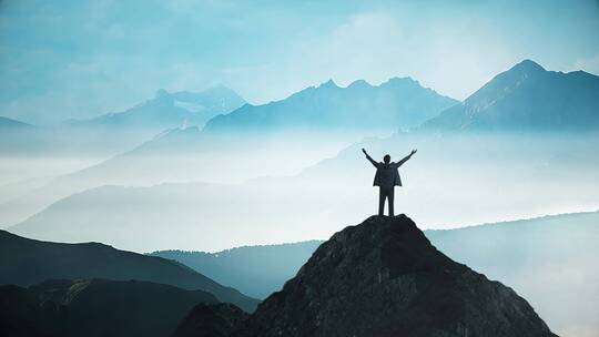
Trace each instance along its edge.
<instances>
[{"instance_id":1,"label":"tall blue pointed mountain at the right edge, below the sky","mask_svg":"<svg viewBox=\"0 0 599 337\"><path fill-rule=\"evenodd\" d=\"M425 130L585 131L599 129L599 76L547 71L525 60L496 75Z\"/></svg>"}]
</instances>

